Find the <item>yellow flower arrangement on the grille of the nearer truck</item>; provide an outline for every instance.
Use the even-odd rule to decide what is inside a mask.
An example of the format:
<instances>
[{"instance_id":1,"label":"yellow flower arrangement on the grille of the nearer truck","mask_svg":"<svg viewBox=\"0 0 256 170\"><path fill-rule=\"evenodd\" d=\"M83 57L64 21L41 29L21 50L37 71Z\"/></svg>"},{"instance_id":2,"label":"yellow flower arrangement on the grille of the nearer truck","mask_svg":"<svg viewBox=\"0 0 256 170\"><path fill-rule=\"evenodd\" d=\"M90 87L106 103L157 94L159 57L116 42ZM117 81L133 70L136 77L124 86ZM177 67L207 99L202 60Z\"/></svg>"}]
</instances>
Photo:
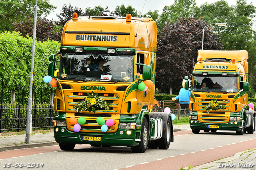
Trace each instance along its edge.
<instances>
[{"instance_id":1,"label":"yellow flower arrangement on the grille of the nearer truck","mask_svg":"<svg viewBox=\"0 0 256 170\"><path fill-rule=\"evenodd\" d=\"M98 96L98 93L92 92L92 94L88 93L87 97L85 97L83 101L75 105L74 109L77 112L93 111L95 113L96 110L109 110L110 107L106 101Z\"/></svg>"}]
</instances>

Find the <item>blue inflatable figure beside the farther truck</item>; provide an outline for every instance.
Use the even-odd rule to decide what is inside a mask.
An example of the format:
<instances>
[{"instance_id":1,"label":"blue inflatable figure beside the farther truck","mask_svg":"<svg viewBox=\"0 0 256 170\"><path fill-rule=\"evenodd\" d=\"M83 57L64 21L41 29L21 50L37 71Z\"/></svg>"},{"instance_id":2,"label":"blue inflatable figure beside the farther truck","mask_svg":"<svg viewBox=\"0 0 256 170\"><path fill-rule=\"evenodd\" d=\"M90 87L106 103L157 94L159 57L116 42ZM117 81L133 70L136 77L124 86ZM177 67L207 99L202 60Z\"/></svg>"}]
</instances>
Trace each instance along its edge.
<instances>
[{"instance_id":1,"label":"blue inflatable figure beside the farther truck","mask_svg":"<svg viewBox=\"0 0 256 170\"><path fill-rule=\"evenodd\" d=\"M183 79L182 81L182 87L180 89L180 92L179 92L179 95L176 96L176 97L173 97L172 100L173 101L176 101L176 100L179 100L180 102L180 108L181 109L189 109L189 102L190 102L190 88L189 90L186 90L184 87L185 87L185 82L186 80ZM190 82L190 81L189 81Z\"/></svg>"}]
</instances>

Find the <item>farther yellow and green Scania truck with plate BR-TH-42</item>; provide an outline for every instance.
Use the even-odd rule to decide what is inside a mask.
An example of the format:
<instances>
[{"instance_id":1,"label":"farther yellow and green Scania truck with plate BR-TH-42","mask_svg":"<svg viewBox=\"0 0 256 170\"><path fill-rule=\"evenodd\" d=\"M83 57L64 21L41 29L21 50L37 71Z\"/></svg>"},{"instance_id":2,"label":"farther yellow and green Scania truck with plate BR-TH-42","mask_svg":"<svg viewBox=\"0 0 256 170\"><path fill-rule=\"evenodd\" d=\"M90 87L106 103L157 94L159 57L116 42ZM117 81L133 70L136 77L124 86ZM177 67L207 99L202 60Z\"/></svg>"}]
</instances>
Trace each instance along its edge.
<instances>
[{"instance_id":1,"label":"farther yellow and green Scania truck with plate BR-TH-42","mask_svg":"<svg viewBox=\"0 0 256 170\"><path fill-rule=\"evenodd\" d=\"M189 104L193 133L235 130L242 135L255 131L254 111L244 110L249 86L247 59L245 50L198 50Z\"/></svg>"}]
</instances>

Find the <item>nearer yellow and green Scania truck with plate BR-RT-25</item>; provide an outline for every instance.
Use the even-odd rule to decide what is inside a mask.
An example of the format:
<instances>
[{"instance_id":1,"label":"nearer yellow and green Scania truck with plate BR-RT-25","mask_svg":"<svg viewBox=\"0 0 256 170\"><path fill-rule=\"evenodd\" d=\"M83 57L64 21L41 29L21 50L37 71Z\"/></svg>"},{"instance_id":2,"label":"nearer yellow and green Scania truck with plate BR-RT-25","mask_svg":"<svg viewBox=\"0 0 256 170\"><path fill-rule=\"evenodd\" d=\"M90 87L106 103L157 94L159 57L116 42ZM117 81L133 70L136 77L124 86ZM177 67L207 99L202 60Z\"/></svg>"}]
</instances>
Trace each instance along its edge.
<instances>
[{"instance_id":1,"label":"nearer yellow and green Scania truck with plate BR-RT-25","mask_svg":"<svg viewBox=\"0 0 256 170\"><path fill-rule=\"evenodd\" d=\"M173 142L171 114L152 112L157 103L156 37L156 22L150 18L73 14L63 28L55 77L54 109L59 115L54 120L54 138L62 150L72 150L76 144L128 146L142 153L147 147L169 148ZM54 58L50 56L48 68L52 77ZM140 89L146 80L152 86ZM92 109L98 102L92 99L95 94L109 109ZM77 111L74 106L82 100L95 103ZM99 118L106 124L99 123ZM80 119L85 122L80 121L77 128Z\"/></svg>"}]
</instances>

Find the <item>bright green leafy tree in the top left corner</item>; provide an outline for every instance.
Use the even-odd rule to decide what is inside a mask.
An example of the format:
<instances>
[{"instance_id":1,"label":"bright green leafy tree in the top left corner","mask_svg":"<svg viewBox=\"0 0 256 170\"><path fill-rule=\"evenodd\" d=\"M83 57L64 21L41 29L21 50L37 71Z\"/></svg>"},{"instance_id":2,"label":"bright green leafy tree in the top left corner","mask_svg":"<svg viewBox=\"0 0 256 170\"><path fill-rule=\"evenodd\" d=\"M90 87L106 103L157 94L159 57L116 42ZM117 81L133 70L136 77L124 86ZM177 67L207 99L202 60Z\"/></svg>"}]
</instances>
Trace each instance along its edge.
<instances>
[{"instance_id":1,"label":"bright green leafy tree in the top left corner","mask_svg":"<svg viewBox=\"0 0 256 170\"><path fill-rule=\"evenodd\" d=\"M25 20L34 16L36 0L0 0L0 32L13 31L12 22ZM56 9L49 0L38 0L38 16L50 14Z\"/></svg>"}]
</instances>

